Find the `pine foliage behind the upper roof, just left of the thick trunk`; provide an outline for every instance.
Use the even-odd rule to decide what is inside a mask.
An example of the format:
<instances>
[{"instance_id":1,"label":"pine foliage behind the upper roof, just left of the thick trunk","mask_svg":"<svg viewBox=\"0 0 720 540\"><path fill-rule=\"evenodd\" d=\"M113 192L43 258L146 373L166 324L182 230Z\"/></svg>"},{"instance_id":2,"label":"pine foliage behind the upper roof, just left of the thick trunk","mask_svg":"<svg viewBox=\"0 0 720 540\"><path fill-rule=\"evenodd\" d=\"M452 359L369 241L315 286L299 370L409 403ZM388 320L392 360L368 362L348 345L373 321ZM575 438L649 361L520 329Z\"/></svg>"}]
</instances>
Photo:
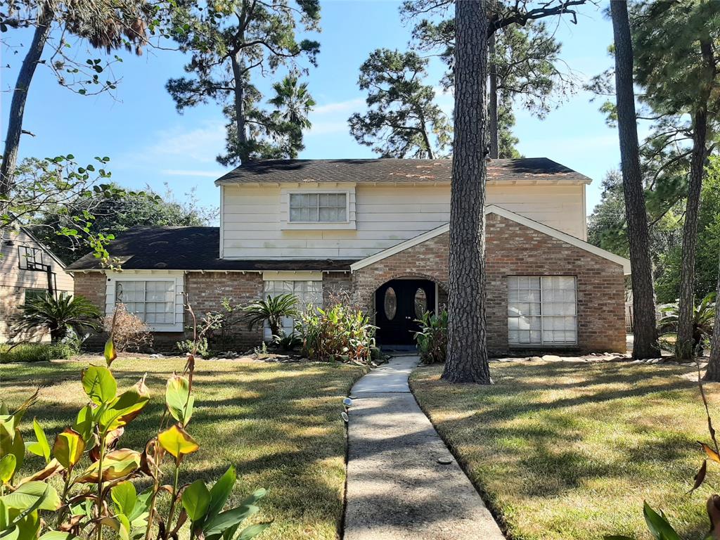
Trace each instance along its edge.
<instances>
[{"instance_id":1,"label":"pine foliage behind the upper roof, just left of the thick trunk","mask_svg":"<svg viewBox=\"0 0 720 540\"><path fill-rule=\"evenodd\" d=\"M360 66L365 114L348 119L350 132L383 158L437 158L451 143L451 126L424 84L428 60L417 53L377 49Z\"/></svg>"}]
</instances>

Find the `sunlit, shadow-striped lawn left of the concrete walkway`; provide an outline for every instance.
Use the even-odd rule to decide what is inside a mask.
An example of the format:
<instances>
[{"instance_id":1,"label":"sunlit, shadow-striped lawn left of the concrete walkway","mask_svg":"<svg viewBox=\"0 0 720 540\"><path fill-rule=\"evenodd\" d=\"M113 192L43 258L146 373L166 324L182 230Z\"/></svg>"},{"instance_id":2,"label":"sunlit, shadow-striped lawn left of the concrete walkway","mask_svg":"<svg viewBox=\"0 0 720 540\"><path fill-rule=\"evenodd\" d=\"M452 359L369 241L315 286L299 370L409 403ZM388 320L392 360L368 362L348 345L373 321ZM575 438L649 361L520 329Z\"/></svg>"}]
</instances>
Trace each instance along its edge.
<instances>
[{"instance_id":1,"label":"sunlit, shadow-striped lawn left of the concrete walkway","mask_svg":"<svg viewBox=\"0 0 720 540\"><path fill-rule=\"evenodd\" d=\"M182 359L114 362L119 389L148 372L153 394L148 408L127 428L120 446L142 449L153 436L163 412L166 379L183 364ZM0 366L0 395L11 410L35 387L43 387L40 402L23 422L26 438L35 438L32 429L27 429L33 416L44 426L51 444L55 433L71 423L86 401L79 381L83 366L74 361ZM341 400L364 372L359 366L330 363L198 361L195 413L188 431L201 448L186 460L182 480L202 478L212 484L235 464L239 480L231 503L240 502L258 487L268 490L261 512L253 518L274 520L261 540L338 538L346 448ZM41 464L40 458L28 459L23 473Z\"/></svg>"}]
</instances>

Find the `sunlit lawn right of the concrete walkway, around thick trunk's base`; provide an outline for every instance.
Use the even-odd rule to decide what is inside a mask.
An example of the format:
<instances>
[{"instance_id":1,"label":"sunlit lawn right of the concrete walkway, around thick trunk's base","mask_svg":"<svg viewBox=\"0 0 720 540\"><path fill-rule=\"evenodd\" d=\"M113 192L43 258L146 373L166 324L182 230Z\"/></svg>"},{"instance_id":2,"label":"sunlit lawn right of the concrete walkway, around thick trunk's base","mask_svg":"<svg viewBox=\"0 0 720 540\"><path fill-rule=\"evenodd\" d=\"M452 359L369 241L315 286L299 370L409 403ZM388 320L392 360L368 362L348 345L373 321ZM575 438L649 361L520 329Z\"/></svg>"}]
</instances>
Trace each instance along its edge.
<instances>
[{"instance_id":1,"label":"sunlit lawn right of the concrete walkway, around thick trunk's base","mask_svg":"<svg viewBox=\"0 0 720 540\"><path fill-rule=\"evenodd\" d=\"M491 364L490 387L451 385L441 367L411 385L514 540L649 539L647 500L683 538L702 538L720 465L692 494L708 441L696 372L626 363ZM720 387L706 392L720 423Z\"/></svg>"}]
</instances>

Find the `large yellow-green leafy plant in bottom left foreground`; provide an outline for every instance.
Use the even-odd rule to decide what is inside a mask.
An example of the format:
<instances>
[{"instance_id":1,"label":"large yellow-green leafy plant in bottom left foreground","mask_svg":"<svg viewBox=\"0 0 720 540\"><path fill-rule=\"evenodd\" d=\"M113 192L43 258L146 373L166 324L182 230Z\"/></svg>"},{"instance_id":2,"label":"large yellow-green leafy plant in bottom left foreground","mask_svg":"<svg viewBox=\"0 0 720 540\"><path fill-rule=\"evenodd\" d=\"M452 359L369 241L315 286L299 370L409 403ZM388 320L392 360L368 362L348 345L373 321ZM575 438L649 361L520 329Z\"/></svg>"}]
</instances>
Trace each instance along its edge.
<instances>
[{"instance_id":1,"label":"large yellow-green leafy plant in bottom left foreground","mask_svg":"<svg viewBox=\"0 0 720 540\"><path fill-rule=\"evenodd\" d=\"M192 314L192 308L189 311ZM58 433L53 446L37 420L32 423L37 441L24 441L19 427L40 390L12 413L0 405L0 539L102 540L107 531L120 540L168 540L177 539L186 524L191 540L249 540L257 536L269 523L242 529L240 525L258 512L256 503L265 490L257 490L239 506L225 509L237 480L234 467L212 487L202 480L187 485L180 482L185 459L199 449L187 431L194 410L197 347L189 353L182 373L168 379L166 410L158 431L142 451L137 451L118 448L118 441L143 413L150 392L145 377L118 392L111 371L117 359L112 331L110 335L105 346L106 365L90 365L82 372L87 404L73 425ZM41 456L45 467L18 480L26 449ZM170 482L164 478L164 462L171 463ZM55 477L62 481L55 482ZM149 478L151 485L138 493L131 480L141 477ZM62 487L58 489L57 485ZM158 508L163 499L166 513Z\"/></svg>"}]
</instances>

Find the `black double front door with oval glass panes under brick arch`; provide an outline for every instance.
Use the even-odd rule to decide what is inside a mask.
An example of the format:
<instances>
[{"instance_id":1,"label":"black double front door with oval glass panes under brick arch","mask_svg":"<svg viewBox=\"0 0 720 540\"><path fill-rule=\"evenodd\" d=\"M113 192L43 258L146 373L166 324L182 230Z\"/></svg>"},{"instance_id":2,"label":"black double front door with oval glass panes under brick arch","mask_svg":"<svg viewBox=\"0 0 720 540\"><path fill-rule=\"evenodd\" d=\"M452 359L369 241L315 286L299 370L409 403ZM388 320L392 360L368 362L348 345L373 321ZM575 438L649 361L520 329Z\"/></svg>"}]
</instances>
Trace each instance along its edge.
<instances>
[{"instance_id":1,"label":"black double front door with oval glass panes under brick arch","mask_svg":"<svg viewBox=\"0 0 720 540\"><path fill-rule=\"evenodd\" d=\"M378 345L412 345L423 312L435 311L435 284L428 279L393 279L375 292Z\"/></svg>"}]
</instances>

